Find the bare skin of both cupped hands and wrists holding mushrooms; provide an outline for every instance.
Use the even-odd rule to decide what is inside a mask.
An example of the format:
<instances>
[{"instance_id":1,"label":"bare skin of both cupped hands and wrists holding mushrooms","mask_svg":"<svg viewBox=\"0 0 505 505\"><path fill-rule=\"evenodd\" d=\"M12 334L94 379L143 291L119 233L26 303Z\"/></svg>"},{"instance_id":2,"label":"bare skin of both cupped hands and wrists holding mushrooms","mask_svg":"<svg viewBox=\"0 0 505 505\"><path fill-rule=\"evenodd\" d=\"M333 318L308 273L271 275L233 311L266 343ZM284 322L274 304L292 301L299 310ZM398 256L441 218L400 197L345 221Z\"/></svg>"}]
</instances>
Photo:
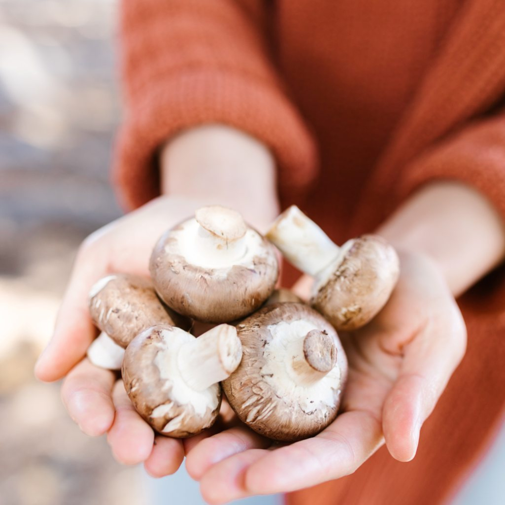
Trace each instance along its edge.
<instances>
[{"instance_id":1,"label":"bare skin of both cupped hands and wrists holding mushrooms","mask_svg":"<svg viewBox=\"0 0 505 505\"><path fill-rule=\"evenodd\" d=\"M464 355L466 331L454 297L505 254L503 224L485 198L458 183L426 186L376 230L397 247L401 276L383 311L352 340L342 335L350 366L343 415L314 438L271 450L271 442L237 423L224 405L226 422L209 433L184 442L156 437L154 445L153 431L132 410L121 383L114 386L111 372L81 361L96 334L87 291L115 270L145 274L161 232L201 205L228 205L263 228L278 211L274 174L268 150L232 129L208 126L174 139L162 156L162 188L171 196L85 242L53 340L36 368L41 380L66 375L62 396L71 417L89 435L107 432L118 461L144 462L151 475L163 476L186 453L187 469L210 503L347 475L384 443L397 460L411 460L423 422ZM308 282L300 280L299 294L307 294Z\"/></svg>"}]
</instances>

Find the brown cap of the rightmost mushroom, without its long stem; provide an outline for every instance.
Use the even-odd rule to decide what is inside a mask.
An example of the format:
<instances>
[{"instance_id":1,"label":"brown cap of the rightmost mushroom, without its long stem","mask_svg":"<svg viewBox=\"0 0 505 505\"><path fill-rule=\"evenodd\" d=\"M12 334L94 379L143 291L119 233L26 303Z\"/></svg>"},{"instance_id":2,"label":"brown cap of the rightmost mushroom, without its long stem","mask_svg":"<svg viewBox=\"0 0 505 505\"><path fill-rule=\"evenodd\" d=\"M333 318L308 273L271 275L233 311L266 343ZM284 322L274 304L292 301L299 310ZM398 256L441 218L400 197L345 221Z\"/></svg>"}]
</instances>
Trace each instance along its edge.
<instances>
[{"instance_id":1,"label":"brown cap of the rightmost mushroom, without its long stem","mask_svg":"<svg viewBox=\"0 0 505 505\"><path fill-rule=\"evenodd\" d=\"M311 305L337 330L355 330L384 307L398 276L394 247L377 235L363 235L345 242L320 273Z\"/></svg>"}]
</instances>

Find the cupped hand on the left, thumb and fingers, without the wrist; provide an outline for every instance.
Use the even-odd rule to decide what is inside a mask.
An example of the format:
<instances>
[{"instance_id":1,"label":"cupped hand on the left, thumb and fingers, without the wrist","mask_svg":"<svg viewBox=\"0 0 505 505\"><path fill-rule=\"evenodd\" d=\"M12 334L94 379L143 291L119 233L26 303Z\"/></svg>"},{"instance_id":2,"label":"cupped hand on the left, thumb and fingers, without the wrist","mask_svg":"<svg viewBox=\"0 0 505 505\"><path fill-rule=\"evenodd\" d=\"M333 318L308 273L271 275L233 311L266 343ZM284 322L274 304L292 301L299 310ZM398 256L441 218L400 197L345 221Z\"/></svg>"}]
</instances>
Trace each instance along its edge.
<instances>
[{"instance_id":1,"label":"cupped hand on the left, thumb and fingers, without the wrist","mask_svg":"<svg viewBox=\"0 0 505 505\"><path fill-rule=\"evenodd\" d=\"M149 275L156 240L199 206L195 200L160 197L90 235L78 251L54 336L35 369L43 381L66 375L63 402L81 430L92 436L107 432L118 461L145 461L147 470L155 475L177 470L184 457L182 443L157 436L153 446L154 432L133 410L123 382L116 382L116 374L84 358L97 334L88 312L88 292L100 277L114 272Z\"/></svg>"}]
</instances>

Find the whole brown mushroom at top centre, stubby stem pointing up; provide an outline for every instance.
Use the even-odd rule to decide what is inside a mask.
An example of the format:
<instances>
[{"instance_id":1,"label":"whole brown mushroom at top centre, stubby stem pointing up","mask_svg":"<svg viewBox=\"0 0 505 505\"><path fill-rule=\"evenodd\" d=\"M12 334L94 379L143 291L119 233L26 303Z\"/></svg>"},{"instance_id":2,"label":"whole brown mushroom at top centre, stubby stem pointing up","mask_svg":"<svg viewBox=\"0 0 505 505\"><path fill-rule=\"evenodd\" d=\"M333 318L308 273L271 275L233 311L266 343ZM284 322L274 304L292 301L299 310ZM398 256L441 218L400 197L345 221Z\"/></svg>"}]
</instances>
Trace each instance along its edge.
<instances>
[{"instance_id":1,"label":"whole brown mushroom at top centre, stubby stem pointing up","mask_svg":"<svg viewBox=\"0 0 505 505\"><path fill-rule=\"evenodd\" d=\"M238 212L211 206L160 238L150 272L170 308L200 322L225 323L263 304L279 267L275 248Z\"/></svg>"}]
</instances>

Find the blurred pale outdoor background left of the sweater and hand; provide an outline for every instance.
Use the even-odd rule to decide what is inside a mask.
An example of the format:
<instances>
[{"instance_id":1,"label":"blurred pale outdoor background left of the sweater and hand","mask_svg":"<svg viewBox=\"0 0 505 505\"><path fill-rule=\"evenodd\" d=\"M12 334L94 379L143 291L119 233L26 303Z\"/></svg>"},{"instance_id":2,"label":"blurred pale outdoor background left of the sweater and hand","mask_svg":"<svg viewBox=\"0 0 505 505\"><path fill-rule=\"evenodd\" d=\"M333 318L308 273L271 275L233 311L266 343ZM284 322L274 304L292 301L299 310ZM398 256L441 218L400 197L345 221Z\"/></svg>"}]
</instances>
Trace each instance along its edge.
<instances>
[{"instance_id":1,"label":"blurred pale outdoor background left of the sweater and hand","mask_svg":"<svg viewBox=\"0 0 505 505\"><path fill-rule=\"evenodd\" d=\"M135 469L33 378L75 250L120 215L114 0L0 0L0 503L133 505Z\"/></svg>"}]
</instances>

